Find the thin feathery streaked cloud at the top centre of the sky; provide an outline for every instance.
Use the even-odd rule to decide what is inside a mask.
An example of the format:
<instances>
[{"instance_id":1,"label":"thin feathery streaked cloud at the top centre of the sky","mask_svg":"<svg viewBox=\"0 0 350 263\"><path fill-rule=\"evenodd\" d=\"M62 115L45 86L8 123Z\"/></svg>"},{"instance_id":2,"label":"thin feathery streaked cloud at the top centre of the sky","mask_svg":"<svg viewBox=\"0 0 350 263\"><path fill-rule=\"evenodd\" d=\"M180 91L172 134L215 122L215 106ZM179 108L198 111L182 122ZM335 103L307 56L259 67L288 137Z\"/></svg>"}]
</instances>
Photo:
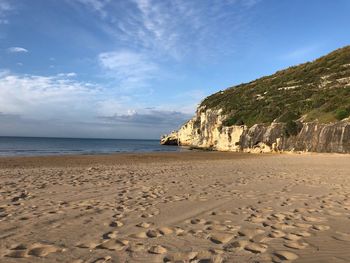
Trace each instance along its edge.
<instances>
[{"instance_id":1,"label":"thin feathery streaked cloud at the top centre of the sky","mask_svg":"<svg viewBox=\"0 0 350 263\"><path fill-rule=\"evenodd\" d=\"M156 59L177 60L196 54L212 57L227 45L232 50L237 34L245 32L249 19L245 11L258 2L78 0L99 17L103 13L102 21L96 24L119 45L151 53Z\"/></svg>"}]
</instances>

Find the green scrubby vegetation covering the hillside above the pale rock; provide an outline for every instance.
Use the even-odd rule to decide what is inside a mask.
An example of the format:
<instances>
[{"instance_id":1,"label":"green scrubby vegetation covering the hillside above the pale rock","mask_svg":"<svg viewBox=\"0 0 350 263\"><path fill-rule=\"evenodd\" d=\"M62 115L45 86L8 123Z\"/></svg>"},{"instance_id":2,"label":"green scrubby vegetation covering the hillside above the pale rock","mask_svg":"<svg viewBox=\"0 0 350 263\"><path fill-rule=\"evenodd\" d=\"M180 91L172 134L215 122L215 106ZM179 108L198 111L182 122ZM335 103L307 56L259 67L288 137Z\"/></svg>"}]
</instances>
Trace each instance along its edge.
<instances>
[{"instance_id":1,"label":"green scrubby vegetation covering the hillside above the pale rock","mask_svg":"<svg viewBox=\"0 0 350 263\"><path fill-rule=\"evenodd\" d=\"M224 123L290 124L295 120L328 123L350 115L350 46L313 62L290 67L247 84L219 91L201 106L223 109Z\"/></svg>"}]
</instances>

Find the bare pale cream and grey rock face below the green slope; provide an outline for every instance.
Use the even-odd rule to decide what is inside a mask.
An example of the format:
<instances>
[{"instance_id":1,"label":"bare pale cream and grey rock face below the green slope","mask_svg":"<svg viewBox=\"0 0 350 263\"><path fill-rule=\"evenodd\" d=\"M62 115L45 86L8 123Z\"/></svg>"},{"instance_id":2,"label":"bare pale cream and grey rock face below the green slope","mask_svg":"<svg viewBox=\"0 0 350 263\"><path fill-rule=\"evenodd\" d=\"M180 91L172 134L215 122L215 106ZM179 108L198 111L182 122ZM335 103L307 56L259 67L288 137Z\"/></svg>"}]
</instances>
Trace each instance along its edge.
<instances>
[{"instance_id":1,"label":"bare pale cream and grey rock face below the green slope","mask_svg":"<svg viewBox=\"0 0 350 263\"><path fill-rule=\"evenodd\" d=\"M350 121L302 123L298 134L288 136L284 123L223 126L222 110L198 108L196 116L178 131L164 136L161 144L244 152L350 153Z\"/></svg>"}]
</instances>

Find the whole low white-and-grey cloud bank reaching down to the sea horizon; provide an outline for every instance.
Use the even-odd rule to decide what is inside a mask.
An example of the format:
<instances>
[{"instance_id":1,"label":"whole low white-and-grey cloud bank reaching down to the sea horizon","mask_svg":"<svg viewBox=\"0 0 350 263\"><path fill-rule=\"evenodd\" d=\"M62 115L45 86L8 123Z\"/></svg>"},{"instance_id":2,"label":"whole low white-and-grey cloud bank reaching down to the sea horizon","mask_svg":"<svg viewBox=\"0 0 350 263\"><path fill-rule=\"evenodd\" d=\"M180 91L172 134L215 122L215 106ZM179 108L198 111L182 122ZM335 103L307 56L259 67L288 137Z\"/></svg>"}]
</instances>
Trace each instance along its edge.
<instances>
[{"instance_id":1,"label":"whole low white-and-grey cloud bank reaching down to the sea horizon","mask_svg":"<svg viewBox=\"0 0 350 263\"><path fill-rule=\"evenodd\" d=\"M133 97L109 96L67 74L0 71L0 135L158 138L189 117L166 107L146 108Z\"/></svg>"}]
</instances>

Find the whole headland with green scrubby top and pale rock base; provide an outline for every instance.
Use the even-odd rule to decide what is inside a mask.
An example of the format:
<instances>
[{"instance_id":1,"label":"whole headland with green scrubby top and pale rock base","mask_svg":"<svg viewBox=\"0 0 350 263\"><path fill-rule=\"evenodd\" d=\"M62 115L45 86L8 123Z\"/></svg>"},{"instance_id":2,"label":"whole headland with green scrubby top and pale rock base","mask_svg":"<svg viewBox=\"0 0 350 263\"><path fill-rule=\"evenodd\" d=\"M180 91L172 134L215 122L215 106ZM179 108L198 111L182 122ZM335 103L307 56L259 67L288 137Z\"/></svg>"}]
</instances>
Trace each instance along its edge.
<instances>
[{"instance_id":1,"label":"whole headland with green scrubby top and pale rock base","mask_svg":"<svg viewBox=\"0 0 350 263\"><path fill-rule=\"evenodd\" d=\"M350 47L219 91L161 144L350 153Z\"/></svg>"}]
</instances>

